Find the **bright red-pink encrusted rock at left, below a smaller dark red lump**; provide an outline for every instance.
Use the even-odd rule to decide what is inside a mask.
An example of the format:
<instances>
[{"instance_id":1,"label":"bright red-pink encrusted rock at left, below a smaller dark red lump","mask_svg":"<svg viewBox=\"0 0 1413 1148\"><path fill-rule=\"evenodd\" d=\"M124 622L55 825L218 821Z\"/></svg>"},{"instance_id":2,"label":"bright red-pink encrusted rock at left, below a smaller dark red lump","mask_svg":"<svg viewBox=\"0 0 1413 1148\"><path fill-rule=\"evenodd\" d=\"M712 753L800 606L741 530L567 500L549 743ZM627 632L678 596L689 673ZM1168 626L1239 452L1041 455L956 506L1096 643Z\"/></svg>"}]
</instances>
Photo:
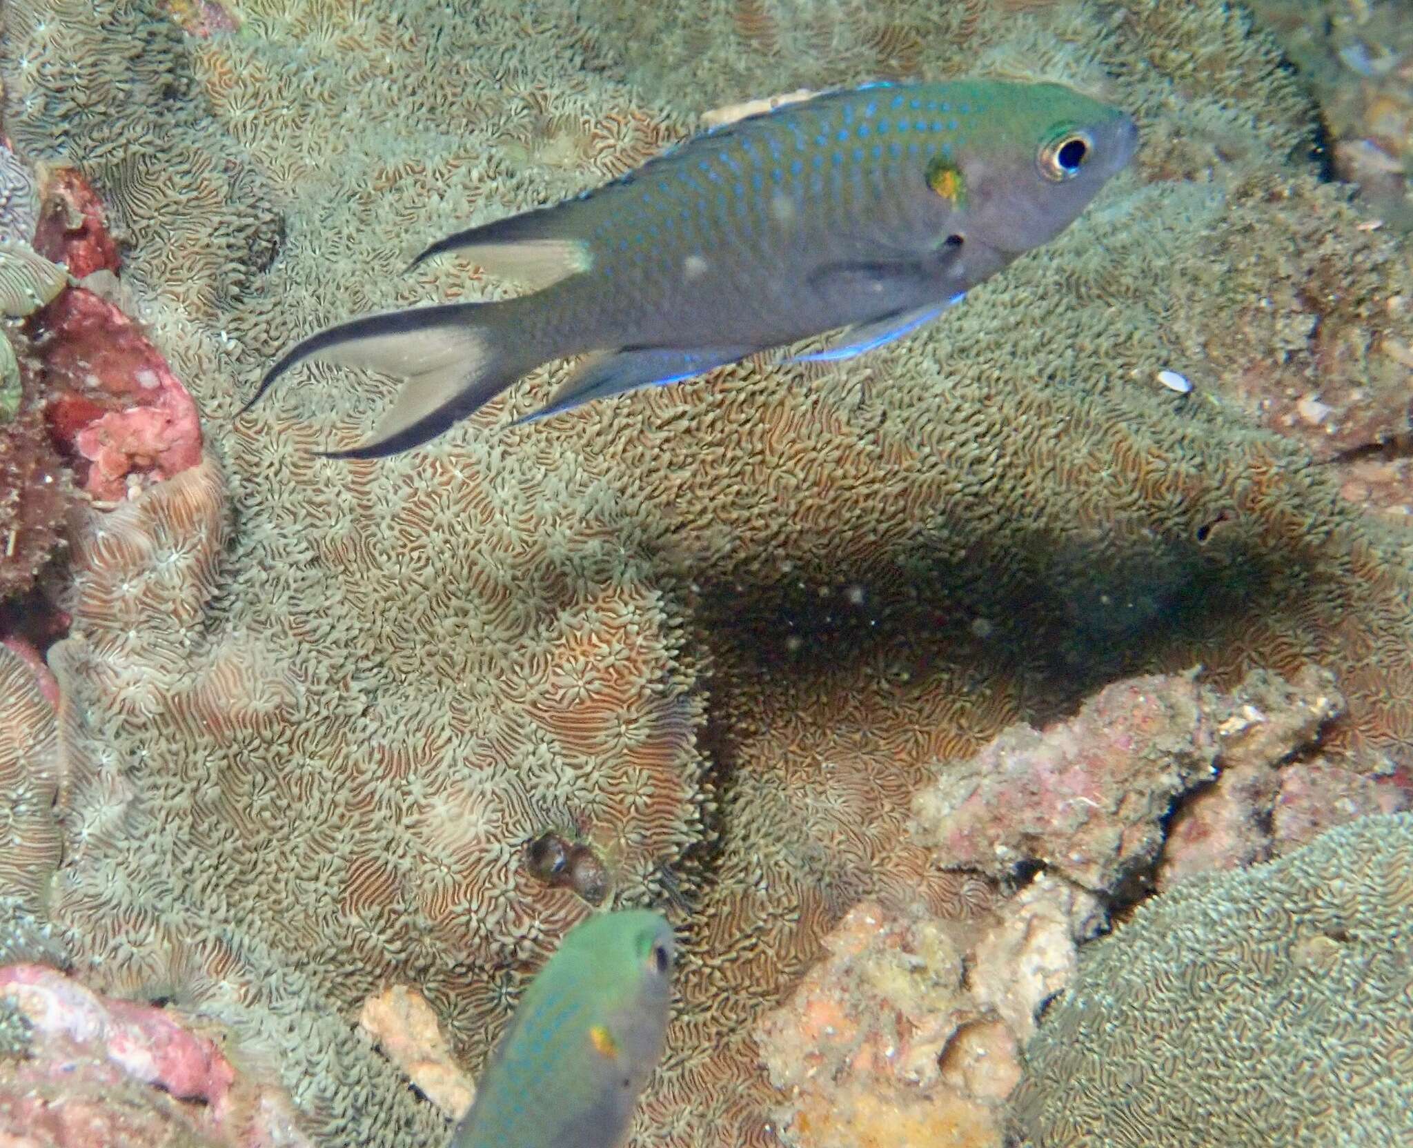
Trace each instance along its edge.
<instances>
[{"instance_id":1,"label":"bright red-pink encrusted rock at left, below a smaller dark red lump","mask_svg":"<svg viewBox=\"0 0 1413 1148\"><path fill-rule=\"evenodd\" d=\"M195 402L114 304L71 287L35 322L49 430L89 493L122 499L130 474L164 479L201 461Z\"/></svg>"}]
</instances>

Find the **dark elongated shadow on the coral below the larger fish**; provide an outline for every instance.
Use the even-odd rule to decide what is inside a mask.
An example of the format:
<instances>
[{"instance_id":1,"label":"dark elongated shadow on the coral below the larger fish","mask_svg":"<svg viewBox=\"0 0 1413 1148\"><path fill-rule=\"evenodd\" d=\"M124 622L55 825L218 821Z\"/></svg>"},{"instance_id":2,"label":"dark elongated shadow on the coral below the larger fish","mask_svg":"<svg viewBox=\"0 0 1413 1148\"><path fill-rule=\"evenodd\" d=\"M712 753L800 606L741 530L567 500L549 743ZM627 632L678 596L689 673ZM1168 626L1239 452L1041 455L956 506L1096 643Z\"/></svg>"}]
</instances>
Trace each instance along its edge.
<instances>
[{"instance_id":1,"label":"dark elongated shadow on the coral below the larger fish","mask_svg":"<svg viewBox=\"0 0 1413 1148\"><path fill-rule=\"evenodd\" d=\"M702 622L722 667L771 686L858 689L859 667L870 667L899 693L918 693L961 655L978 687L1020 677L1023 718L1046 722L1098 686L1161 664L1194 638L1217 639L1286 597L1282 582L1299 557L1263 554L1248 532L1217 523L1239 525L1218 516L1205 534L1147 553L1037 537L1019 547L1027 570L988 541L957 558L938 539L825 578L723 580L704 588ZM731 687L726 674L718 689Z\"/></svg>"}]
</instances>

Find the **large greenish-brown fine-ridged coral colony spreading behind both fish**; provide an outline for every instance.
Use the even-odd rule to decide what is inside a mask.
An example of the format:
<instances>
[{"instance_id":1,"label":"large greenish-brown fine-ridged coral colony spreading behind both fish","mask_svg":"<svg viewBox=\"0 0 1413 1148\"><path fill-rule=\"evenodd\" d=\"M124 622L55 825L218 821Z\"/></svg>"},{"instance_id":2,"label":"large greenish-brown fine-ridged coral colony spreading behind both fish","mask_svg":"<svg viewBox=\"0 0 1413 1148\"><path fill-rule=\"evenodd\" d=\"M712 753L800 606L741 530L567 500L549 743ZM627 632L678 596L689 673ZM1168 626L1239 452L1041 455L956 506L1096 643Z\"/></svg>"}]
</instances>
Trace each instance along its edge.
<instances>
[{"instance_id":1,"label":"large greenish-brown fine-ridged coral colony spreading behind both fish","mask_svg":"<svg viewBox=\"0 0 1413 1148\"><path fill-rule=\"evenodd\" d=\"M630 7L243 0L202 35L157 0L6 8L6 133L106 197L209 451L79 525L51 912L95 987L277 1053L322 1144L441 1127L353 1021L414 984L479 1070L586 912L527 871L541 834L682 929L640 1142L760 1144L749 1022L844 909L985 908L897 844L935 759L1198 660L1337 666L1334 744L1413 752L1407 540L1221 399L1308 355L1291 332L1406 322L1400 253L1318 182L1313 110L1238 10L709 0L644 54ZM708 107L972 71L1098 90L1147 143L926 335L504 428L555 366L374 464L312 451L360 437L376 380L309 370L233 417L322 322L506 290L401 269Z\"/></svg>"}]
</instances>

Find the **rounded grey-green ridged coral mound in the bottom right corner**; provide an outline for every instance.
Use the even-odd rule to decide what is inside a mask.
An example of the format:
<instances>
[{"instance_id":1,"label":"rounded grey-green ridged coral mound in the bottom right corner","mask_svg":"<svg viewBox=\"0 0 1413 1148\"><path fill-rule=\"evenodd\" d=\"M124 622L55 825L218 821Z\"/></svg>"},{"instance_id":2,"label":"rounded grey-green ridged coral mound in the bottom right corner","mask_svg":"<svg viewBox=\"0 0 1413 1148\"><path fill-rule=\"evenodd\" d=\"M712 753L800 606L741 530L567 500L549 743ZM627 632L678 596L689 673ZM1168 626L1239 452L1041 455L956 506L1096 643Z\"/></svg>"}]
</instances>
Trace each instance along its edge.
<instances>
[{"instance_id":1,"label":"rounded grey-green ridged coral mound in the bottom right corner","mask_svg":"<svg viewBox=\"0 0 1413 1148\"><path fill-rule=\"evenodd\" d=\"M1365 817L1084 949L1015 1100L1034 1148L1407 1144L1410 851Z\"/></svg>"}]
</instances>

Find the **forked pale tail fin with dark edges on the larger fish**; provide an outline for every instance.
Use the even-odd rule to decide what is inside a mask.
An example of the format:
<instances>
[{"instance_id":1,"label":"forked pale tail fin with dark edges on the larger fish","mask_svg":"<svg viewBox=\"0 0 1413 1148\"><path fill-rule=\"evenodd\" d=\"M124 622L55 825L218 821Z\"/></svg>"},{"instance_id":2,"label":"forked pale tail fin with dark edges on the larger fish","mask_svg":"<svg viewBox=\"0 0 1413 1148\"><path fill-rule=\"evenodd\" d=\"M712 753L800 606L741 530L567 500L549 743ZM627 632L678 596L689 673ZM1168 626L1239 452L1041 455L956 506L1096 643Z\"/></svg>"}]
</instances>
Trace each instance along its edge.
<instances>
[{"instance_id":1,"label":"forked pale tail fin with dark edges on the larger fish","mask_svg":"<svg viewBox=\"0 0 1413 1148\"><path fill-rule=\"evenodd\" d=\"M533 324L519 322L524 300L448 303L384 311L325 328L291 348L242 407L304 362L333 363L403 379L403 389L373 433L328 458L383 458L418 447L495 399L554 353L524 344ZM519 338L516 338L519 336ZM239 416L237 416L239 417Z\"/></svg>"}]
</instances>

